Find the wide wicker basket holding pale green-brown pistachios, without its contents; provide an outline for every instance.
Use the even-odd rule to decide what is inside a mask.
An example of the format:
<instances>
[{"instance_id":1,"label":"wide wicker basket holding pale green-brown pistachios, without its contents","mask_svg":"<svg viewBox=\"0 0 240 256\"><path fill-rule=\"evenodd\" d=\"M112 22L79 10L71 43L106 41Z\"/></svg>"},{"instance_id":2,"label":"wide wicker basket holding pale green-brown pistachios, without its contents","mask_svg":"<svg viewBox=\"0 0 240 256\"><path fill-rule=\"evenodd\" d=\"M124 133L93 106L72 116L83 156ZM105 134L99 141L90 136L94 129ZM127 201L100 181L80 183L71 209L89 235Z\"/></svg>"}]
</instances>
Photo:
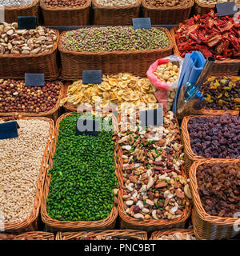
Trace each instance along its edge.
<instances>
[{"instance_id":1,"label":"wide wicker basket holding pale green-brown pistachios, without its contents","mask_svg":"<svg viewBox=\"0 0 240 256\"><path fill-rule=\"evenodd\" d=\"M102 74L117 74L127 72L134 75L146 76L150 64L158 58L164 58L172 53L173 42L168 30L162 27L169 38L169 46L154 50L127 50L87 52L80 50L63 50L62 36L58 50L62 58L62 79L66 81L78 80L82 77L82 70L102 70Z\"/></svg>"}]
</instances>

